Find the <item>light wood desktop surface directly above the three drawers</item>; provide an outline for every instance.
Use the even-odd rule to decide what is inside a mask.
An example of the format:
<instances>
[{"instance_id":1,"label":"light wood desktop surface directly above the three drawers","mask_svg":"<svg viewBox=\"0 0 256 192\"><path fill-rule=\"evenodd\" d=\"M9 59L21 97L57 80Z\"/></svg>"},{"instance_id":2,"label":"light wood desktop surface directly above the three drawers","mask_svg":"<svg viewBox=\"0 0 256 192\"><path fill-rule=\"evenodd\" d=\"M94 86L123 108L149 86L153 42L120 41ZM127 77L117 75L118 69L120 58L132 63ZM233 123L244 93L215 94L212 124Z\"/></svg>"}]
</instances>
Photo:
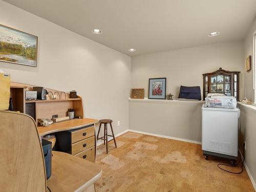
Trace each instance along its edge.
<instances>
[{"instance_id":1,"label":"light wood desktop surface directly above the three drawers","mask_svg":"<svg viewBox=\"0 0 256 192\"><path fill-rule=\"evenodd\" d=\"M74 130L83 126L97 123L97 119L71 119L67 121L53 123L50 126L38 126L37 130L40 136L47 135L50 133L56 133L60 131Z\"/></svg>"}]
</instances>

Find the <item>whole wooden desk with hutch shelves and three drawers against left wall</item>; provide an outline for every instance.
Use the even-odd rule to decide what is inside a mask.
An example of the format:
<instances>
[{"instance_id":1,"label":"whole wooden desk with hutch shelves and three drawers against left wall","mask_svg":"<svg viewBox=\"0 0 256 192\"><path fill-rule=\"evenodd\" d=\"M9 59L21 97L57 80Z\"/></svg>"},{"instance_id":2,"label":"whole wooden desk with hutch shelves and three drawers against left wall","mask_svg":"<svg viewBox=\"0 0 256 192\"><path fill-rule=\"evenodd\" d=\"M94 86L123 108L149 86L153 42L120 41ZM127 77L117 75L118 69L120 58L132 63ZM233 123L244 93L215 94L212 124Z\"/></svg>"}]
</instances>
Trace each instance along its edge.
<instances>
[{"instance_id":1,"label":"whole wooden desk with hutch shelves and three drawers against left wall","mask_svg":"<svg viewBox=\"0 0 256 192\"><path fill-rule=\"evenodd\" d=\"M75 110L75 116L80 119L71 119L53 123L47 127L37 125L40 136L55 134L55 150L66 152L83 159L95 162L96 157L96 139L95 123L96 119L84 118L82 98L70 98L68 93L66 97L51 100L25 100L25 91L32 90L34 86L11 82L10 97L13 100L14 111L19 111L30 115L37 124L37 119L52 119L52 115L67 116L70 108ZM48 92L60 91L45 88Z\"/></svg>"}]
</instances>

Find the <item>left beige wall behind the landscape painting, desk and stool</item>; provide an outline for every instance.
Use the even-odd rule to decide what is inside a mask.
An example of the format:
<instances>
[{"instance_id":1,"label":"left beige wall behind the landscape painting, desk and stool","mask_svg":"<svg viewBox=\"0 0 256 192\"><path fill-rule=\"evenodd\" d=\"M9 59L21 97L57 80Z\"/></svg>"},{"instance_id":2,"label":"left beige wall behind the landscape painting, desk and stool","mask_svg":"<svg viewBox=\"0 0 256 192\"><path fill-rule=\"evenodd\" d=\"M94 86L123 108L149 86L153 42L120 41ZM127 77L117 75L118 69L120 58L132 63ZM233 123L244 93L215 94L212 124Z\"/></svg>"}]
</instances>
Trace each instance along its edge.
<instances>
[{"instance_id":1,"label":"left beige wall behind the landscape painting, desk and stool","mask_svg":"<svg viewBox=\"0 0 256 192\"><path fill-rule=\"evenodd\" d=\"M113 119L116 134L129 128L131 57L2 1L0 24L38 36L37 68L0 62L12 81L76 90L86 117Z\"/></svg>"}]
</instances>

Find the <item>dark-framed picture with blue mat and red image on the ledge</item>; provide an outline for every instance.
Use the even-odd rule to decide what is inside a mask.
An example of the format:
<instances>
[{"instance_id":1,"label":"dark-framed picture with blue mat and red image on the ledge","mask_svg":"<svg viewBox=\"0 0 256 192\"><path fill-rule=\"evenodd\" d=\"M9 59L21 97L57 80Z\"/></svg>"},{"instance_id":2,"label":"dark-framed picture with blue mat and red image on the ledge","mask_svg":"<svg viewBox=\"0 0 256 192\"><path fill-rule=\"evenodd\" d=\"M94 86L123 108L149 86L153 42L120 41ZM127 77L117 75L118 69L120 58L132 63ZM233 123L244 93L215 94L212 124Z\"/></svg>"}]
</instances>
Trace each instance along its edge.
<instances>
[{"instance_id":1,"label":"dark-framed picture with blue mat and red image on the ledge","mask_svg":"<svg viewBox=\"0 0 256 192\"><path fill-rule=\"evenodd\" d=\"M166 98L166 78L151 78L148 86L148 99Z\"/></svg>"}]
</instances>

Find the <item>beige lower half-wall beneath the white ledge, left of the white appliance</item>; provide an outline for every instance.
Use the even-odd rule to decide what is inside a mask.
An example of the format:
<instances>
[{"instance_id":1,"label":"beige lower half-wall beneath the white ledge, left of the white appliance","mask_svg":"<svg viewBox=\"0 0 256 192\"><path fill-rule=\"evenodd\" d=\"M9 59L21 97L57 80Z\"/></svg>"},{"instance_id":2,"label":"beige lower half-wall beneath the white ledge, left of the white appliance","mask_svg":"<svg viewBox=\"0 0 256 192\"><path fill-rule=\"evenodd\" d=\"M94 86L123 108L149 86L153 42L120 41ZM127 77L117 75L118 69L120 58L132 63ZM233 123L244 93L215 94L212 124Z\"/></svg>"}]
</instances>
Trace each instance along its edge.
<instances>
[{"instance_id":1,"label":"beige lower half-wall beneath the white ledge, left of the white appliance","mask_svg":"<svg viewBox=\"0 0 256 192\"><path fill-rule=\"evenodd\" d=\"M201 142L201 101L130 100L130 129Z\"/></svg>"}]
</instances>

